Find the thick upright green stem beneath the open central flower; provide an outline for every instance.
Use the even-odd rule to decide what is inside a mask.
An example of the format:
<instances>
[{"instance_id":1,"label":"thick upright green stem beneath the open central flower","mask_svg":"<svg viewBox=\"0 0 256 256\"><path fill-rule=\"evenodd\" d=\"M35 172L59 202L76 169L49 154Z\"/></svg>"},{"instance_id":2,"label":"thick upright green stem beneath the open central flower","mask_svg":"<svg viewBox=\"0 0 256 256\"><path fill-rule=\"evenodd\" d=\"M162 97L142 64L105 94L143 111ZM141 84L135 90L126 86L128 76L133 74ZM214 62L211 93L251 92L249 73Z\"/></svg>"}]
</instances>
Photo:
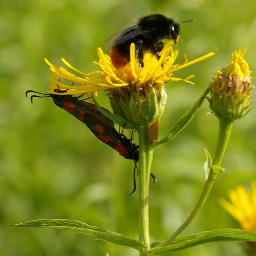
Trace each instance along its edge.
<instances>
[{"instance_id":1,"label":"thick upright green stem beneath the open central flower","mask_svg":"<svg viewBox=\"0 0 256 256\"><path fill-rule=\"evenodd\" d=\"M137 127L139 136L139 239L146 245L141 249L140 255L146 255L150 250L150 229L148 218L148 188L150 182L151 164L153 159L153 149L148 141L147 127Z\"/></svg>"}]
</instances>

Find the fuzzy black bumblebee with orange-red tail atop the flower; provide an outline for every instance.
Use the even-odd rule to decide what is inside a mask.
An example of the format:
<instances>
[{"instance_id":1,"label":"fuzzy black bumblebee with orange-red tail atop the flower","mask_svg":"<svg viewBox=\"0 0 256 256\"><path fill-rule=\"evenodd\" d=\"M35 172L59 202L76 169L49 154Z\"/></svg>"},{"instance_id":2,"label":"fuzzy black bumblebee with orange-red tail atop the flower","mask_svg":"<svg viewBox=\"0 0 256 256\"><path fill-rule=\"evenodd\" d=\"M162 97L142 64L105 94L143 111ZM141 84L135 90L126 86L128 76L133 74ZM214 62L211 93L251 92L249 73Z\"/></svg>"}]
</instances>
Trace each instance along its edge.
<instances>
[{"instance_id":1,"label":"fuzzy black bumblebee with orange-red tail atop the flower","mask_svg":"<svg viewBox=\"0 0 256 256\"><path fill-rule=\"evenodd\" d=\"M193 20L186 20L186 22ZM183 23L183 22L181 22ZM162 14L152 14L140 18L136 25L129 27L118 34L111 50L111 59L116 68L125 66L130 61L130 45L136 46L136 58L140 69L143 68L143 54L151 51L160 58L159 52L163 49L162 39L172 39L175 43L180 34L180 24Z\"/></svg>"}]
</instances>

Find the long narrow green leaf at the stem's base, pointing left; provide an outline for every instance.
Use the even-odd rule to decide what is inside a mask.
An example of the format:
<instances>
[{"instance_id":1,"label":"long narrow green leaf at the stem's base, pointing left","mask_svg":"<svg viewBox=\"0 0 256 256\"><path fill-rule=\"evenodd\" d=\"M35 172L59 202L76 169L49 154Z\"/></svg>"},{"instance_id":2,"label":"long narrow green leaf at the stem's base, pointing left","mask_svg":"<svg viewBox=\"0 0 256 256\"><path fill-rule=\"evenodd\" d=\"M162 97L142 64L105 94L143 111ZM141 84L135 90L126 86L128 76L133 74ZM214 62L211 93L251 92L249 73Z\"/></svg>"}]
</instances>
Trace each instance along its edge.
<instances>
[{"instance_id":1,"label":"long narrow green leaf at the stem's base, pointing left","mask_svg":"<svg viewBox=\"0 0 256 256\"><path fill-rule=\"evenodd\" d=\"M46 219L46 220L33 220L27 221L20 224L13 225L15 227L43 227L43 228L57 228L65 229L68 231L85 234L88 237L93 237L113 244L123 245L127 247L132 247L139 250L140 248L146 247L140 241L135 239L125 237L122 234L111 232L99 227L94 227L86 223L66 220L66 219Z\"/></svg>"}]
</instances>

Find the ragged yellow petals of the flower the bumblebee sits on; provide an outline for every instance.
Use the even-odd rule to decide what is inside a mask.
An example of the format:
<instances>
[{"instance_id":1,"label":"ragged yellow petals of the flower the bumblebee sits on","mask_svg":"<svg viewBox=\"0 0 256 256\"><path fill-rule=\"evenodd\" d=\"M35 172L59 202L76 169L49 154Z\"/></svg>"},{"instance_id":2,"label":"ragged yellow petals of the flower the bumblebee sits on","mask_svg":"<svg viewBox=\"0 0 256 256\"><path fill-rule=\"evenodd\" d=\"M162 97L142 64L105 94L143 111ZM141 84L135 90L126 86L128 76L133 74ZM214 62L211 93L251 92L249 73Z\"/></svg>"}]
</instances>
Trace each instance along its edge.
<instances>
[{"instance_id":1,"label":"ragged yellow petals of the flower the bumblebee sits on","mask_svg":"<svg viewBox=\"0 0 256 256\"><path fill-rule=\"evenodd\" d=\"M138 61L135 57L135 45L131 44L130 58L131 61L121 68L115 68L112 63L111 57L104 54L98 48L99 61L94 62L100 67L100 70L90 73L84 73L74 68L68 61L61 59L62 62L73 72L68 71L64 67L55 67L52 63L45 59L53 74L50 76L50 88L52 89L68 89L66 93L61 94L81 94L96 92L100 90L112 90L126 88L130 92L139 92L144 86L151 84L153 87L161 87L169 81L184 81L191 84L189 81L194 75L186 78L174 77L174 72L199 61L202 61L212 55L214 52L208 53L192 61L188 61L186 56L183 63L175 63L179 51L173 50L172 44L169 42L164 49L160 52L160 59L153 53L146 52L143 57L144 68L139 69ZM52 77L58 80L52 79ZM59 81L61 79L61 81ZM63 81L64 80L64 81ZM66 81L70 81L66 83ZM70 85L70 83L74 83ZM55 93L49 91L50 93Z\"/></svg>"}]
</instances>

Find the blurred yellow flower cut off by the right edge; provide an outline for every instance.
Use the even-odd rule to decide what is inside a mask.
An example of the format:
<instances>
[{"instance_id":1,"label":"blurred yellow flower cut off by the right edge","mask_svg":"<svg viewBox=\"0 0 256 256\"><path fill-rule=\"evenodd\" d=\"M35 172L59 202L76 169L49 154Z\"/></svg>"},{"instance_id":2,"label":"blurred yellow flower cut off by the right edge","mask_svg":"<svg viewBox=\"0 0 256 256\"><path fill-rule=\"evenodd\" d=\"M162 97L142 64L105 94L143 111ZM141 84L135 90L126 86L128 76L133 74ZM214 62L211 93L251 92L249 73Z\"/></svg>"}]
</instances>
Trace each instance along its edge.
<instances>
[{"instance_id":1,"label":"blurred yellow flower cut off by the right edge","mask_svg":"<svg viewBox=\"0 0 256 256\"><path fill-rule=\"evenodd\" d=\"M231 202L221 198L220 205L236 219L242 229L256 231L256 180L251 182L251 190L242 185L229 191Z\"/></svg>"}]
</instances>

